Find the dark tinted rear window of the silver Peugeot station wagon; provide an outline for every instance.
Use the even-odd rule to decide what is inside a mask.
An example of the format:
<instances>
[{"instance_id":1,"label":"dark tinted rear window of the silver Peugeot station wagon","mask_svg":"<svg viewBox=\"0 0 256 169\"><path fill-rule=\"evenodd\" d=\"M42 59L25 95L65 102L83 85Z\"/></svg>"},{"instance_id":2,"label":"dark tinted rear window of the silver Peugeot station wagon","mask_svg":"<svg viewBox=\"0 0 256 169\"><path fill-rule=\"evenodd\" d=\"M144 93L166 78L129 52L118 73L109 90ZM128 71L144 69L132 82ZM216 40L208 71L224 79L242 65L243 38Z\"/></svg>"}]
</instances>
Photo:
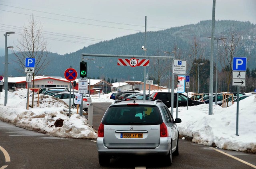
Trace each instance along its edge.
<instances>
[{"instance_id":1,"label":"dark tinted rear window of the silver Peugeot station wagon","mask_svg":"<svg viewBox=\"0 0 256 169\"><path fill-rule=\"evenodd\" d=\"M156 125L162 123L157 106L111 106L108 108L102 123L106 125Z\"/></svg>"}]
</instances>

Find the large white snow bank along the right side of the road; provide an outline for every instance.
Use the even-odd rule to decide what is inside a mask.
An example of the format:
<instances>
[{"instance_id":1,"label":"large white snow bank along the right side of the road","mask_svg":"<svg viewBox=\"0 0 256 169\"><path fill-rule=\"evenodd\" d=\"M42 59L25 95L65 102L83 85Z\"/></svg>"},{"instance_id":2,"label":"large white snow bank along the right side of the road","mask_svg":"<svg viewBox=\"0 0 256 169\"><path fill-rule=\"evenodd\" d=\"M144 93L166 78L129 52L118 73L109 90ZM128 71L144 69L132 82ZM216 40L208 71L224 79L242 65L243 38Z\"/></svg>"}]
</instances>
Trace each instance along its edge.
<instances>
[{"instance_id":1,"label":"large white snow bank along the right side of the road","mask_svg":"<svg viewBox=\"0 0 256 169\"><path fill-rule=\"evenodd\" d=\"M256 95L239 102L239 136L236 136L236 103L228 108L214 104L210 116L208 106L200 104L188 107L188 110L178 108L178 118L182 123L177 125L181 135L190 136L193 142L204 145L256 153Z\"/></svg>"}]
</instances>

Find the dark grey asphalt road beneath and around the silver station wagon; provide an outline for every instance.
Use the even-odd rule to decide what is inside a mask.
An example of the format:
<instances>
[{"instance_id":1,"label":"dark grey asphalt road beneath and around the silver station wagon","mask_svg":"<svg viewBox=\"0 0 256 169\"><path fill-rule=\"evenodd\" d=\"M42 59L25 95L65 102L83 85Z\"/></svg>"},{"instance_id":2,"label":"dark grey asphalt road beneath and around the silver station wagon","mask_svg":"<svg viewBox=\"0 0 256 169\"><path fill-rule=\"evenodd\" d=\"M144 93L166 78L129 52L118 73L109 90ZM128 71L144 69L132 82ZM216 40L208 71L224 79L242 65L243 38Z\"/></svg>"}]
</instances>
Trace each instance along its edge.
<instances>
[{"instance_id":1,"label":"dark grey asphalt road beneath and around the silver station wagon","mask_svg":"<svg viewBox=\"0 0 256 169\"><path fill-rule=\"evenodd\" d=\"M93 126L110 103L94 103ZM256 155L222 150L230 157L190 140L179 141L180 155L172 166L164 166L160 157L119 157L110 166L98 164L96 140L56 138L18 128L0 121L0 169L251 169L256 168ZM218 149L217 149L218 150ZM236 157L238 159L232 158ZM9 158L8 158L9 157Z\"/></svg>"}]
</instances>

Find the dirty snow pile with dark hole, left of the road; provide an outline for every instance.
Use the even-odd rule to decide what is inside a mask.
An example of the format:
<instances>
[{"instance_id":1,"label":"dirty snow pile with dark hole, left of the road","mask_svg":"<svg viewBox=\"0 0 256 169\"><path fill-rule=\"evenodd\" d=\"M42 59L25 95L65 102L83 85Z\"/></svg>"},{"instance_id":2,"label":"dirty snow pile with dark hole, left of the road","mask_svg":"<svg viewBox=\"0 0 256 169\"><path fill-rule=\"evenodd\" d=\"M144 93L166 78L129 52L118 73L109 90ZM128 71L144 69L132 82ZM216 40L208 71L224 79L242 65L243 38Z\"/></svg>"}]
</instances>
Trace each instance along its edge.
<instances>
[{"instance_id":1,"label":"dirty snow pile with dark hole, left of the road","mask_svg":"<svg viewBox=\"0 0 256 169\"><path fill-rule=\"evenodd\" d=\"M16 126L42 132L50 136L96 139L97 134L87 124L87 119L76 114L71 109L68 118L68 105L58 98L40 94L37 107L37 94L34 94L34 108L26 110L27 89L8 92L8 104L4 106L4 99L0 100L0 120ZM32 104L32 97L29 98Z\"/></svg>"}]
</instances>

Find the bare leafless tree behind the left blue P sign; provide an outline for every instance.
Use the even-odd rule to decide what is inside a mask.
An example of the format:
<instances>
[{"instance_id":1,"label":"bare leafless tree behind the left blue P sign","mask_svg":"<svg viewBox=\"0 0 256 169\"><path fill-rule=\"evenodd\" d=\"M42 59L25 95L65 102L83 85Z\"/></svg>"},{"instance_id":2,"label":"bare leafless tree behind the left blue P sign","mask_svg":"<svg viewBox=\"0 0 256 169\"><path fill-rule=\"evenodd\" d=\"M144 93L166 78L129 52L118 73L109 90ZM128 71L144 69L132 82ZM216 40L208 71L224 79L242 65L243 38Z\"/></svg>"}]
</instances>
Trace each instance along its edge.
<instances>
[{"instance_id":1,"label":"bare leafless tree behind the left blue P sign","mask_svg":"<svg viewBox=\"0 0 256 169\"><path fill-rule=\"evenodd\" d=\"M13 51L16 56L16 62L20 65L20 68L16 70L24 73L25 59L36 58L34 73L32 73L33 87L35 87L35 76L46 73L46 66L50 63L47 57L47 41L43 37L42 26L34 19L34 16L30 17L30 20L28 20L28 27L24 26L23 31L22 37L18 40L18 45L16 46L18 52ZM32 108L33 102L34 90L31 105Z\"/></svg>"}]
</instances>

